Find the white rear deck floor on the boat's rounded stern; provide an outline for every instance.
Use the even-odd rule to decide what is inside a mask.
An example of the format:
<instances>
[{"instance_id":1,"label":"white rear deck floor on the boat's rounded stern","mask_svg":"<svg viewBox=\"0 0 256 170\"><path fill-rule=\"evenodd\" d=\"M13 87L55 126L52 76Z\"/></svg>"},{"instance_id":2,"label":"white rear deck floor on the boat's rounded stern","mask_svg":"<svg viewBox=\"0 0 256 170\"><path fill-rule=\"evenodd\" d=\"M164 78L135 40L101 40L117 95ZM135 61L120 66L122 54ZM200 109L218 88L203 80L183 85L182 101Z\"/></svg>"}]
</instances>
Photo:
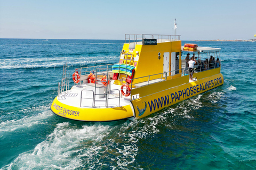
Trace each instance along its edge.
<instances>
[{"instance_id":1,"label":"white rear deck floor on the boat's rounded stern","mask_svg":"<svg viewBox=\"0 0 256 170\"><path fill-rule=\"evenodd\" d=\"M118 107L119 104L119 91L121 86L113 84L114 80L110 81L110 91L108 99L108 107ZM101 83L99 83L101 84ZM103 85L103 84L101 84ZM83 90L83 92L82 92ZM119 91L118 91L119 90ZM81 100L82 92L82 100ZM93 95L92 91L88 91L87 83L78 86L73 86L70 90L62 92L59 96L59 101L63 104L74 106L74 107L93 107ZM106 96L99 98L99 95L95 95L95 108L106 108ZM125 97L120 95L120 105L126 106L130 104L131 96ZM82 102L81 102L82 101Z\"/></svg>"}]
</instances>

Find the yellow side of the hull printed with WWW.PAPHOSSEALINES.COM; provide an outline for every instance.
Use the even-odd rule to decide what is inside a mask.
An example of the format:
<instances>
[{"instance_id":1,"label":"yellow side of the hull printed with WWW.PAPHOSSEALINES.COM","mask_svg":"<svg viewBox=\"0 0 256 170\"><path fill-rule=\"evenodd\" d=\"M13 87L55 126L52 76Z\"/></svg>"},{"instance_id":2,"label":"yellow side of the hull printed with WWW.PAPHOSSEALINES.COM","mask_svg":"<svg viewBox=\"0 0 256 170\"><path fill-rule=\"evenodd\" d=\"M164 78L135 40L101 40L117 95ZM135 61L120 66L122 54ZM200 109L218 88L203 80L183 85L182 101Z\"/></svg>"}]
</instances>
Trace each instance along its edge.
<instances>
[{"instance_id":1,"label":"yellow side of the hull printed with WWW.PAPHOSSEALINES.COM","mask_svg":"<svg viewBox=\"0 0 256 170\"><path fill-rule=\"evenodd\" d=\"M188 76L182 77L182 79L188 79ZM197 81L187 82L180 86L175 86L174 81L179 81L179 79L180 78L150 84L144 89L143 87L140 88L141 94L145 91L149 91L148 89L158 89L159 92L140 97L137 100L132 100L133 107L135 108L135 117L142 118L148 116L165 107L177 104L182 100L186 100L190 97L221 86L224 82L223 75L221 73ZM171 84L174 84L174 86Z\"/></svg>"}]
</instances>

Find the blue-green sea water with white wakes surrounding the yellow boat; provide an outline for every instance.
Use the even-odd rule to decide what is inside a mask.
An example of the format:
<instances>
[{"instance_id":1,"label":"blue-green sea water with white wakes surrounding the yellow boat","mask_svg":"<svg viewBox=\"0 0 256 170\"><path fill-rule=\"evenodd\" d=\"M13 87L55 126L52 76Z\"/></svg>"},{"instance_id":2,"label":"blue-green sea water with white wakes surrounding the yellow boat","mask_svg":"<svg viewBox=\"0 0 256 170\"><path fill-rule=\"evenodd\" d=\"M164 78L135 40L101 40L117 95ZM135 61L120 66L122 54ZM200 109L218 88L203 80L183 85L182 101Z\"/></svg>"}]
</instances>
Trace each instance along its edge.
<instances>
[{"instance_id":1,"label":"blue-green sea water with white wakes surrounding the yellow boat","mask_svg":"<svg viewBox=\"0 0 256 170\"><path fill-rule=\"evenodd\" d=\"M256 43L221 50L223 86L140 120L54 115L63 64L118 63L123 40L0 39L1 169L255 169Z\"/></svg>"}]
</instances>

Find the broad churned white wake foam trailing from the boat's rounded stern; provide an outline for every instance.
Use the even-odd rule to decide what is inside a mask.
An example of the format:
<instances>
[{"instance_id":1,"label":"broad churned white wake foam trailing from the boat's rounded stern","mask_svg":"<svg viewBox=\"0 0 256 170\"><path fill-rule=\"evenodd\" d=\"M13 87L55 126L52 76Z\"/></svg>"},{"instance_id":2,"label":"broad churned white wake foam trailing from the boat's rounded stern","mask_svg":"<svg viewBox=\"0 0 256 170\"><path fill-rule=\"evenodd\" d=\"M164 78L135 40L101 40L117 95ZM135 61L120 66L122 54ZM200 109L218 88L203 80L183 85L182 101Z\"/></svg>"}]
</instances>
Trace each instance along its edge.
<instances>
[{"instance_id":1,"label":"broad churned white wake foam trailing from the boat's rounded stern","mask_svg":"<svg viewBox=\"0 0 256 170\"><path fill-rule=\"evenodd\" d=\"M95 124L84 125L82 129L69 123L57 124L47 139L39 143L34 150L19 155L7 169L76 169L87 161L95 160L102 141L108 134L109 126Z\"/></svg>"}]
</instances>

